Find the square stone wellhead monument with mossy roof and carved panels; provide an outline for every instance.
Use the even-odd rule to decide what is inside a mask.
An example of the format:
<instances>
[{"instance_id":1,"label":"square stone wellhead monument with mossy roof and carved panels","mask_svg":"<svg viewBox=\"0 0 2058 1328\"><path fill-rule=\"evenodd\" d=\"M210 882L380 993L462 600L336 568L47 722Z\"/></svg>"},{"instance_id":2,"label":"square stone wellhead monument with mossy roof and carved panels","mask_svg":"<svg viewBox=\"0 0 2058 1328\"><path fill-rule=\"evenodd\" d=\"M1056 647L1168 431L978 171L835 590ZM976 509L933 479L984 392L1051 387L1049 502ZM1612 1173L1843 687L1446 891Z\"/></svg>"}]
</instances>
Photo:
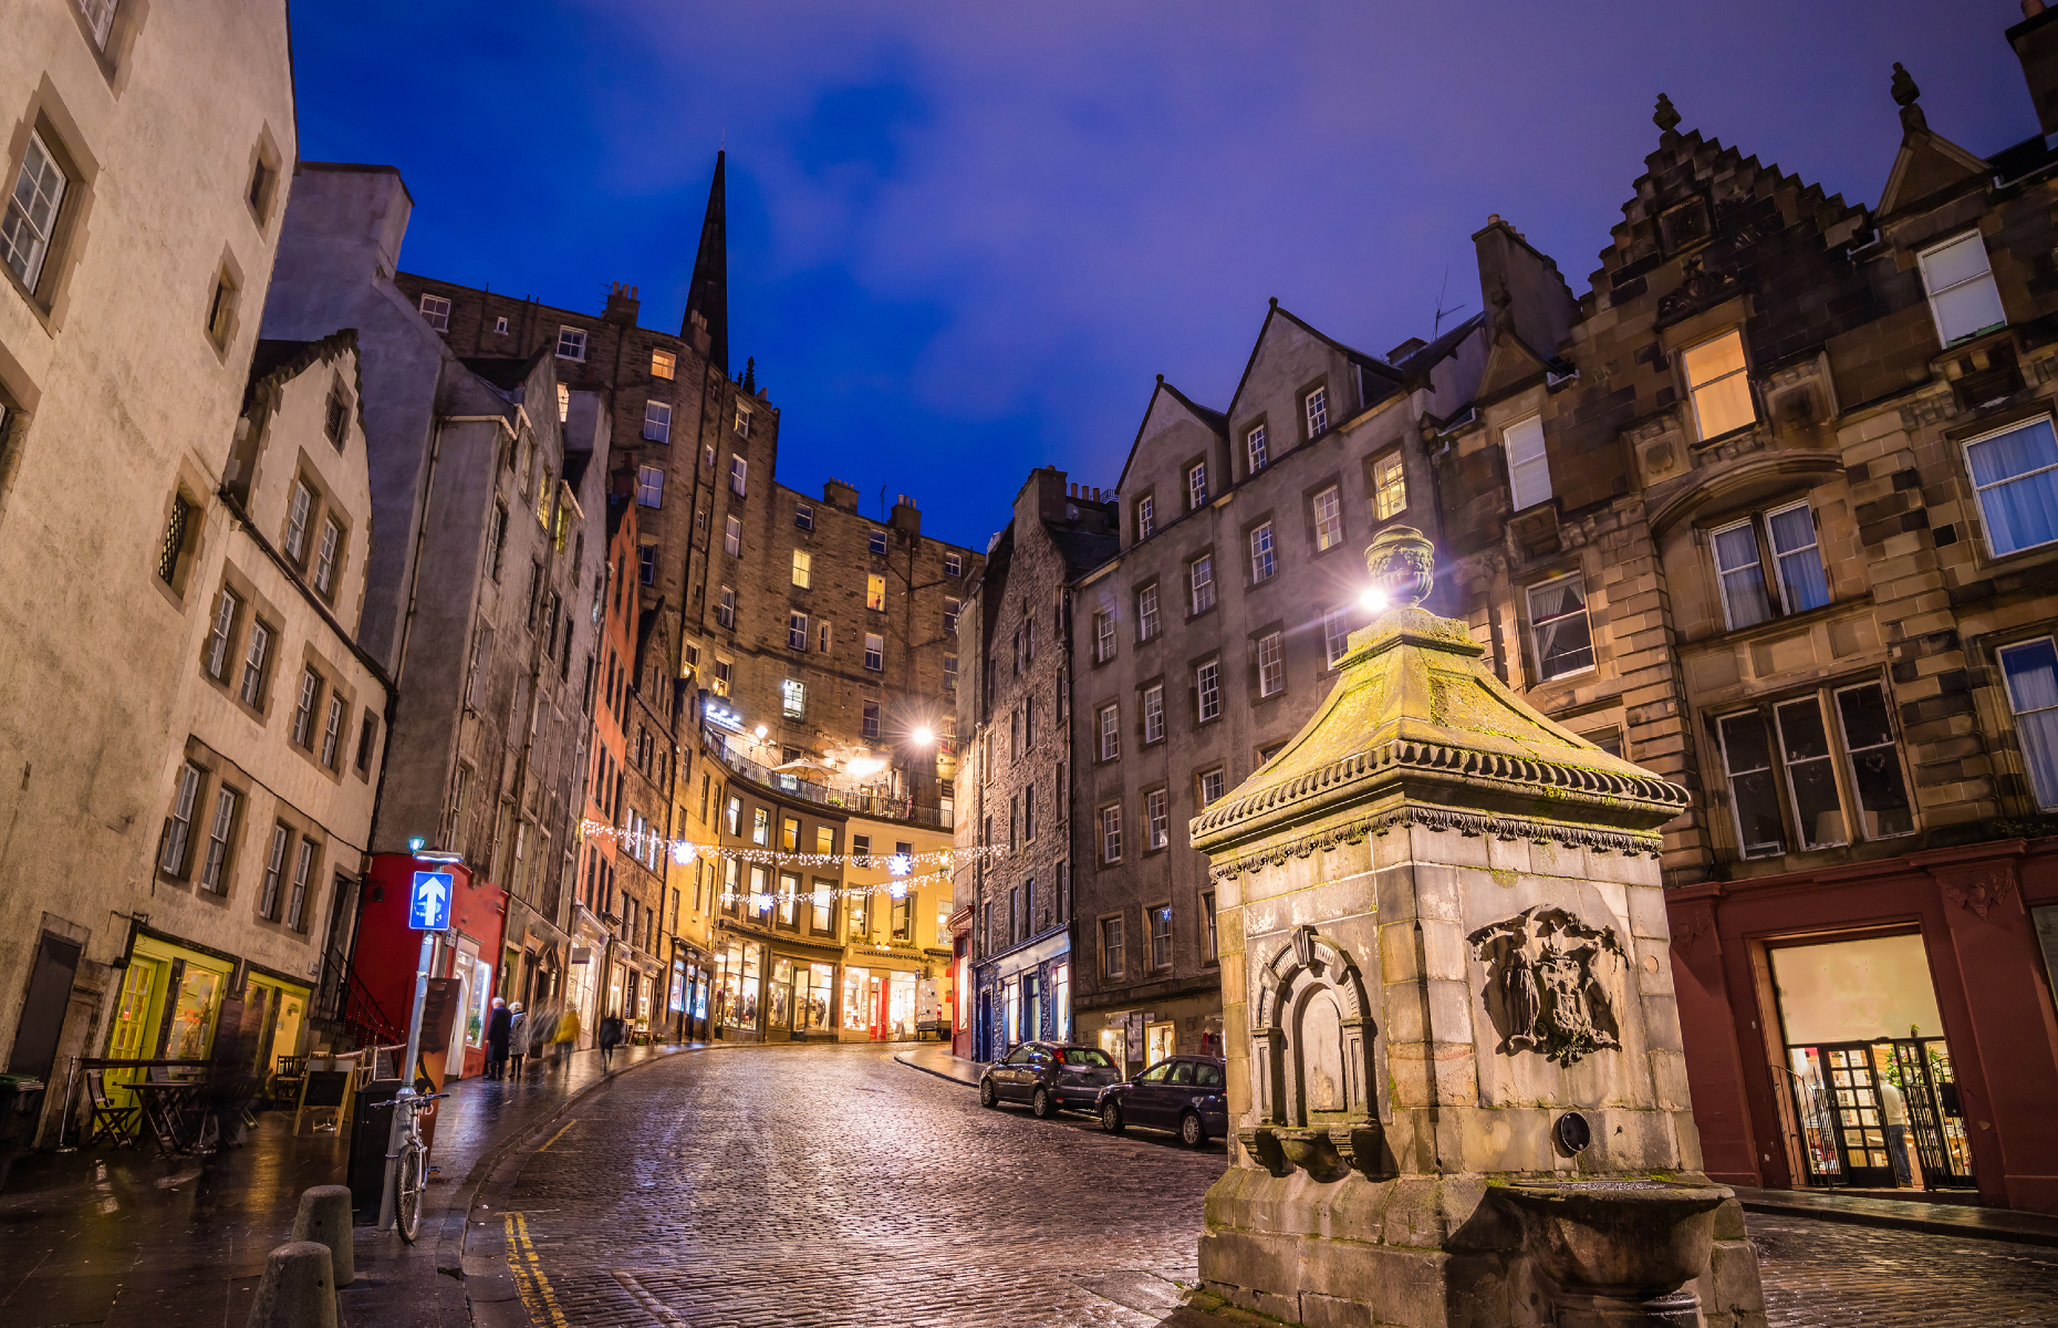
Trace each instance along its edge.
<instances>
[{"instance_id":1,"label":"square stone wellhead monument with mossy roof and carved panels","mask_svg":"<svg viewBox=\"0 0 2058 1328\"><path fill-rule=\"evenodd\" d=\"M1327 702L1192 824L1235 1130L1204 1293L1317 1326L1762 1326L1679 1050L1657 828L1688 791L1422 609L1420 531L1367 564L1391 607Z\"/></svg>"}]
</instances>

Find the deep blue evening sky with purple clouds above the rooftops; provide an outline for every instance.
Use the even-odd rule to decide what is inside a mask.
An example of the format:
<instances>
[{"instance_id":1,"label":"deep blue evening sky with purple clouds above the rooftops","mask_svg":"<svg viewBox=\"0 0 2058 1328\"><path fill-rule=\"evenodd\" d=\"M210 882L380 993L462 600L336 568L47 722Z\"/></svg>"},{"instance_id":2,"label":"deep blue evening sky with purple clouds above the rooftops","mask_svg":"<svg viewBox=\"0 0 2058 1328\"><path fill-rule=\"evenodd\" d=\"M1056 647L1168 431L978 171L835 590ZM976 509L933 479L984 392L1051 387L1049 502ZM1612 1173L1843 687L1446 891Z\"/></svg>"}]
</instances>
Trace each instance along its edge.
<instances>
[{"instance_id":1,"label":"deep blue evening sky with purple clouds above the rooftops","mask_svg":"<svg viewBox=\"0 0 2058 1328\"><path fill-rule=\"evenodd\" d=\"M780 480L984 548L1025 471L1113 484L1152 375L1225 406L1266 296L1362 350L1480 307L1488 212L1576 292L1657 142L1877 202L1895 60L1974 152L2035 117L2015 0L292 0L300 152L391 163L401 264L677 327L729 144L729 317Z\"/></svg>"}]
</instances>

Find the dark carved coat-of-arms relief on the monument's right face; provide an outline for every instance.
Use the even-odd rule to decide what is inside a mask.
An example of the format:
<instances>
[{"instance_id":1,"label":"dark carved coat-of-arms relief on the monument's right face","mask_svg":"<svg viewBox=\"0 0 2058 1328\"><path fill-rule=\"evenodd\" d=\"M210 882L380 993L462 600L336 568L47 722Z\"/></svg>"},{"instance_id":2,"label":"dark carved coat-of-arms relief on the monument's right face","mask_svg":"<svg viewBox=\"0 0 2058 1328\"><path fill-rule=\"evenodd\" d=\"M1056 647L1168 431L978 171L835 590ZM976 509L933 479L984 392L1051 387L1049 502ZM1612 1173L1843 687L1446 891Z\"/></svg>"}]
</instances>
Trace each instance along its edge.
<instances>
[{"instance_id":1,"label":"dark carved coat-of-arms relief on the monument's right face","mask_svg":"<svg viewBox=\"0 0 2058 1328\"><path fill-rule=\"evenodd\" d=\"M1616 1009L1628 955L1613 927L1587 927L1537 904L1465 937L1486 964L1482 1001L1506 1056L1541 1052L1572 1064L1622 1046Z\"/></svg>"}]
</instances>

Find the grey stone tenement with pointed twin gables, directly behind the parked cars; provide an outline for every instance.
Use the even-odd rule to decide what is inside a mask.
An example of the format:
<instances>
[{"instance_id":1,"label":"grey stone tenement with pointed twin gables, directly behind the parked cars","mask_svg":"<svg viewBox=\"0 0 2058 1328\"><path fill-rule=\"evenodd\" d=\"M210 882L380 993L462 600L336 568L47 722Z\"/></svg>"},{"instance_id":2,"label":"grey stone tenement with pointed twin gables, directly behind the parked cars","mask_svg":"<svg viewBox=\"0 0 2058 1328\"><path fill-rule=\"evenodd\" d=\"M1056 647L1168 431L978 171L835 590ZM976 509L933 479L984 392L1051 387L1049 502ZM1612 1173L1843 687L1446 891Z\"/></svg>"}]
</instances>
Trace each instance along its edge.
<instances>
[{"instance_id":1,"label":"grey stone tenement with pointed twin gables, directly behind the parked cars","mask_svg":"<svg viewBox=\"0 0 2058 1328\"><path fill-rule=\"evenodd\" d=\"M1379 358L1274 303L1227 412L1152 391L1120 556L1072 589L1080 1040L1138 1067L1220 1054L1214 887L1185 826L1327 696L1364 618L1360 554L1432 523L1420 430L1471 397L1484 356L1478 317Z\"/></svg>"}]
</instances>

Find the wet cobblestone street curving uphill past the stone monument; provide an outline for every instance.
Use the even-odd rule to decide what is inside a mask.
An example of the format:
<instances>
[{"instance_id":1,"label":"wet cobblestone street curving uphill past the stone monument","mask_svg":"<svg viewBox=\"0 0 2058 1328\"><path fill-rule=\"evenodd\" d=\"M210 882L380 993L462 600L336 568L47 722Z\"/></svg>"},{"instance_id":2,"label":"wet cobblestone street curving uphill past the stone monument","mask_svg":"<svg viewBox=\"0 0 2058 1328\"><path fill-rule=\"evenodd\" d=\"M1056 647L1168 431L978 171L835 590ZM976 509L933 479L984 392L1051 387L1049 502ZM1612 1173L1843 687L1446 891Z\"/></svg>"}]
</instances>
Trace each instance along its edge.
<instances>
[{"instance_id":1,"label":"wet cobblestone street curving uphill past the stone monument","mask_svg":"<svg viewBox=\"0 0 2058 1328\"><path fill-rule=\"evenodd\" d=\"M622 1077L486 1196L510 1213L473 1217L537 1324L1128 1328L1192 1281L1222 1165L1220 1143L986 1112L877 1046L768 1048ZM2052 1250L1749 1227L1774 1324L2058 1324Z\"/></svg>"}]
</instances>

